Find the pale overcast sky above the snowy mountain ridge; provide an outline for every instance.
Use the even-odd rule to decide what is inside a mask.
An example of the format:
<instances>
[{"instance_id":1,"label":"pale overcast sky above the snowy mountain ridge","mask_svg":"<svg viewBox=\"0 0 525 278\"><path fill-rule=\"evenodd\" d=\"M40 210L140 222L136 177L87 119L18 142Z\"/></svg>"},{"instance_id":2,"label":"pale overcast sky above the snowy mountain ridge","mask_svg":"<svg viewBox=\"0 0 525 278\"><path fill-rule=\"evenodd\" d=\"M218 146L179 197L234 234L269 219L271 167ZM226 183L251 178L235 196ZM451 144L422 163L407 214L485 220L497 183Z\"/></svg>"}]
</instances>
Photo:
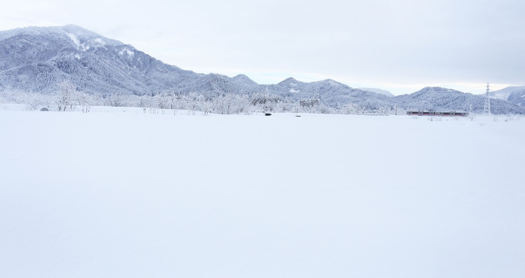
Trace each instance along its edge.
<instances>
[{"instance_id":1,"label":"pale overcast sky above the snowy mountain ridge","mask_svg":"<svg viewBox=\"0 0 525 278\"><path fill-rule=\"evenodd\" d=\"M3 3L0 30L75 24L170 65L258 83L334 79L394 94L525 85L525 1Z\"/></svg>"}]
</instances>

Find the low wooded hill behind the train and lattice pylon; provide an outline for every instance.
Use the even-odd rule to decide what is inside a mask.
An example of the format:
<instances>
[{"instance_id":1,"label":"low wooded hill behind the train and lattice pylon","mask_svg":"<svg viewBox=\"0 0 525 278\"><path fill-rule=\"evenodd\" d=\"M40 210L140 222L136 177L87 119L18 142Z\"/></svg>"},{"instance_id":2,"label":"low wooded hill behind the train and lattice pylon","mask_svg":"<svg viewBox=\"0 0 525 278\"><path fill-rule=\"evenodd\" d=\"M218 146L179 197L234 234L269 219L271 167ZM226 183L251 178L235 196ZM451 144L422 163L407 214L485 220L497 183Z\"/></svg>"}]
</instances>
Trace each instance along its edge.
<instances>
[{"instance_id":1,"label":"low wooded hill behind the train and lattice pylon","mask_svg":"<svg viewBox=\"0 0 525 278\"><path fill-rule=\"evenodd\" d=\"M468 112L472 105L472 111L481 113L485 104L483 95L440 87L426 87L412 94L398 95L394 99L407 110ZM495 114L525 113L525 109L504 100L492 99L490 106Z\"/></svg>"}]
</instances>

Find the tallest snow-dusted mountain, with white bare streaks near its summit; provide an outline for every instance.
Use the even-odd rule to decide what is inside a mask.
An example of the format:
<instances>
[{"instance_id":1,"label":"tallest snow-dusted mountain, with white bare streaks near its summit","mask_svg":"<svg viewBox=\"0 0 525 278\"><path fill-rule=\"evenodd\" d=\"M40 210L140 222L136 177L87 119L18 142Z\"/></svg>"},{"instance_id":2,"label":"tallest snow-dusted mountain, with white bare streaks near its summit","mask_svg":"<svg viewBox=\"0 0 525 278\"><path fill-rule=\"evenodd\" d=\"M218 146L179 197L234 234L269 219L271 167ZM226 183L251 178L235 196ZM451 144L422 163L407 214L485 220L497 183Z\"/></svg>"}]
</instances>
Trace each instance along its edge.
<instances>
[{"instance_id":1,"label":"tallest snow-dusted mountain, with white bare streaks near its summit","mask_svg":"<svg viewBox=\"0 0 525 278\"><path fill-rule=\"evenodd\" d=\"M0 32L0 90L48 93L67 79L93 94L151 94L199 76L75 25Z\"/></svg>"}]
</instances>

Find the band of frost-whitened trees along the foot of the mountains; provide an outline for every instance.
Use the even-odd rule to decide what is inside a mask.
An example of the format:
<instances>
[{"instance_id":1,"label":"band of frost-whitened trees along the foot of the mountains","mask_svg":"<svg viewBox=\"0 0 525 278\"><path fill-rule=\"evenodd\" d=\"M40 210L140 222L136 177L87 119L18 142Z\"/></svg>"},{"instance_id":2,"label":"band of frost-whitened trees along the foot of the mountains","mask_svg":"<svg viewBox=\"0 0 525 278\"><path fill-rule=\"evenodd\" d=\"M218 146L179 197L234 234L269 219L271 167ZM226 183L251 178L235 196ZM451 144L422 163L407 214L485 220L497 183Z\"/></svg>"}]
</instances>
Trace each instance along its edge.
<instances>
[{"instance_id":1,"label":"band of frost-whitened trees along the foot of the mountains","mask_svg":"<svg viewBox=\"0 0 525 278\"><path fill-rule=\"evenodd\" d=\"M102 96L77 91L69 82L60 82L55 93L27 93L19 90L0 92L0 103L26 104L28 110L46 107L50 110L67 111L68 106L82 106L86 112L91 106L137 107L152 110L175 109L215 114L250 114L254 112L291 112L320 114L404 114L402 108L381 106L368 110L364 106L346 103L330 107L319 98L292 98L269 92L255 94L226 93L219 95L190 92L168 92L156 95L112 94Z\"/></svg>"}]
</instances>

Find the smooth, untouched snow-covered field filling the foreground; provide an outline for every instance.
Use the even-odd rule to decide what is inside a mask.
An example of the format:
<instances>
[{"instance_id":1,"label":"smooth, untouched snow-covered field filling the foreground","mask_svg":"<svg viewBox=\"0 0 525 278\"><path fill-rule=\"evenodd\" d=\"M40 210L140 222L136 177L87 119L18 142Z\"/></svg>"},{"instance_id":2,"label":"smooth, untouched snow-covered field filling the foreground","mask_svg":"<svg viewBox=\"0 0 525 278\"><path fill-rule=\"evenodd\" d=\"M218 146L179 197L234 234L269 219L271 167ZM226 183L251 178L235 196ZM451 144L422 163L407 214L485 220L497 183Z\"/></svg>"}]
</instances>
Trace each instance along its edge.
<instances>
[{"instance_id":1,"label":"smooth, untouched snow-covered field filling the foreground","mask_svg":"<svg viewBox=\"0 0 525 278\"><path fill-rule=\"evenodd\" d=\"M525 119L22 110L0 277L525 277Z\"/></svg>"}]
</instances>

